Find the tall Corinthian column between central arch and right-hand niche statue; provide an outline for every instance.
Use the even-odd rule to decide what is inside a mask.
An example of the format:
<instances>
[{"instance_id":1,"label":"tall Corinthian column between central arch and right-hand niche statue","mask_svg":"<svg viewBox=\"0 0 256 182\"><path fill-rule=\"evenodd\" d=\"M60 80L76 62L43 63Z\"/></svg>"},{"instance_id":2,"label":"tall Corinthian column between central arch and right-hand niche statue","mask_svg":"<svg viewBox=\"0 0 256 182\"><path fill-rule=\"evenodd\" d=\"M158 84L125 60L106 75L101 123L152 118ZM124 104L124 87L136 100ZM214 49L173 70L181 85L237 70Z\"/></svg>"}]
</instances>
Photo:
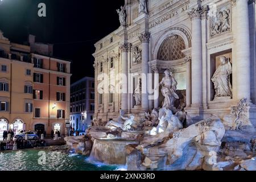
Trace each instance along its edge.
<instances>
[{"instance_id":1,"label":"tall Corinthian column between central arch and right-hand niche statue","mask_svg":"<svg viewBox=\"0 0 256 182\"><path fill-rule=\"evenodd\" d=\"M203 56L202 56L202 29L200 7L189 11L192 20L192 52L191 52L191 76L193 83L192 90L192 106L202 106L203 100Z\"/></svg>"}]
</instances>

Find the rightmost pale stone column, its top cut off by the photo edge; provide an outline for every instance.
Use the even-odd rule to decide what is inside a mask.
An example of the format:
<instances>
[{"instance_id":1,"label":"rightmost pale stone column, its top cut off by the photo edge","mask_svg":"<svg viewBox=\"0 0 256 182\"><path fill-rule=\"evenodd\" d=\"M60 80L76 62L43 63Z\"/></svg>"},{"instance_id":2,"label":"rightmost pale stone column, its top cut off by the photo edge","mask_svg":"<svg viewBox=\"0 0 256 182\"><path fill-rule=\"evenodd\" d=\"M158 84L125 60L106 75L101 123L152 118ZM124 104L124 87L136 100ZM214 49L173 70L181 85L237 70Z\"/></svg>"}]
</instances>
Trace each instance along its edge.
<instances>
[{"instance_id":1,"label":"rightmost pale stone column, its top cut off by the photo edge","mask_svg":"<svg viewBox=\"0 0 256 182\"><path fill-rule=\"evenodd\" d=\"M247 0L236 0L236 70L237 99L247 98L250 102L250 37Z\"/></svg>"}]
</instances>

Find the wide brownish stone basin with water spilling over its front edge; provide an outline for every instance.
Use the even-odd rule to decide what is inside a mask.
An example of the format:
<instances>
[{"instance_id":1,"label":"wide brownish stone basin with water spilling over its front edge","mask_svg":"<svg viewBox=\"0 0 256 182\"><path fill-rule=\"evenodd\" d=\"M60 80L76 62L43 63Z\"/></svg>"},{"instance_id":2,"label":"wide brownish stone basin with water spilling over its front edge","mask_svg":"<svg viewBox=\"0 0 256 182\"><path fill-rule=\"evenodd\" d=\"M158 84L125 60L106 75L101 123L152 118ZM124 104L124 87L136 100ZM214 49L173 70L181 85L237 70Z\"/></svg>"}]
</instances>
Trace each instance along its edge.
<instances>
[{"instance_id":1,"label":"wide brownish stone basin with water spilling over its front edge","mask_svg":"<svg viewBox=\"0 0 256 182\"><path fill-rule=\"evenodd\" d=\"M139 144L138 141L124 139L95 139L90 158L105 164L126 164L126 146Z\"/></svg>"}]
</instances>

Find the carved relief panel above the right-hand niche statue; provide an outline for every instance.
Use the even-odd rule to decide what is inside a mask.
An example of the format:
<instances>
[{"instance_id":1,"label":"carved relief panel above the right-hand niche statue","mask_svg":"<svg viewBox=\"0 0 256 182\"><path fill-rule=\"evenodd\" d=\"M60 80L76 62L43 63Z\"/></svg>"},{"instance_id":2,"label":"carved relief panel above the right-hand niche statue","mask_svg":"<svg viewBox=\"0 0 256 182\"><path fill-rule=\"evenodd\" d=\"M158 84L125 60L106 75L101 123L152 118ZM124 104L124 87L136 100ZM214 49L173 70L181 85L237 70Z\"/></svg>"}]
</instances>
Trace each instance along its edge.
<instances>
[{"instance_id":1,"label":"carved relief panel above the right-hand niche statue","mask_svg":"<svg viewBox=\"0 0 256 182\"><path fill-rule=\"evenodd\" d=\"M229 31L231 28L230 10L219 11L216 17L212 19L212 30L210 36L219 35L222 32Z\"/></svg>"}]
</instances>

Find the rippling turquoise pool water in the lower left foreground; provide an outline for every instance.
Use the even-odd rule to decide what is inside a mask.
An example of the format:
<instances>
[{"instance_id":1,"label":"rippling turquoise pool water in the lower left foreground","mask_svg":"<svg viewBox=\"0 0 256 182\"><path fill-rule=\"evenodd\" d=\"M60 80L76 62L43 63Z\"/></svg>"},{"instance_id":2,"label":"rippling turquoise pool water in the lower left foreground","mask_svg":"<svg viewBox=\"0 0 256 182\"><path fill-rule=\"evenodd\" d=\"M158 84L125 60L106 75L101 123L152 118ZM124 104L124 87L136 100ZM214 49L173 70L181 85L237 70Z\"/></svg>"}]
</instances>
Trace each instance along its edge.
<instances>
[{"instance_id":1,"label":"rippling turquoise pool water in the lower left foreground","mask_svg":"<svg viewBox=\"0 0 256 182\"><path fill-rule=\"evenodd\" d=\"M46 158L39 155L40 151L45 152ZM45 163L40 159L46 159ZM118 167L115 166L89 163L86 156L60 151L0 151L0 171L113 171L117 169Z\"/></svg>"}]
</instances>

